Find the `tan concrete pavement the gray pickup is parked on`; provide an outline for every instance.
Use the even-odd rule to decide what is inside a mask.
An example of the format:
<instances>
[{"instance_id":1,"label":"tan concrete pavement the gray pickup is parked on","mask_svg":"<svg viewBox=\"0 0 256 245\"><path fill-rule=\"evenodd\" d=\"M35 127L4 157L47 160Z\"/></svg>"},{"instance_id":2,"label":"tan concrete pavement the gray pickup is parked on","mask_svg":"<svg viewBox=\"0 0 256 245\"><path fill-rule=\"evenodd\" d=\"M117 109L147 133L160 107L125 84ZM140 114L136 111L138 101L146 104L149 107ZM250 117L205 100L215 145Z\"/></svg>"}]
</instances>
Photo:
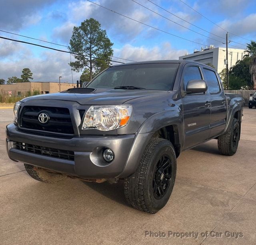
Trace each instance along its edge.
<instances>
[{"instance_id":1,"label":"tan concrete pavement the gray pickup is parked on","mask_svg":"<svg viewBox=\"0 0 256 245\"><path fill-rule=\"evenodd\" d=\"M122 182L30 178L6 154L11 121L12 110L0 109L0 244L256 244L256 109L244 109L234 156L220 155L216 140L182 152L172 196L155 215L126 205Z\"/></svg>"}]
</instances>

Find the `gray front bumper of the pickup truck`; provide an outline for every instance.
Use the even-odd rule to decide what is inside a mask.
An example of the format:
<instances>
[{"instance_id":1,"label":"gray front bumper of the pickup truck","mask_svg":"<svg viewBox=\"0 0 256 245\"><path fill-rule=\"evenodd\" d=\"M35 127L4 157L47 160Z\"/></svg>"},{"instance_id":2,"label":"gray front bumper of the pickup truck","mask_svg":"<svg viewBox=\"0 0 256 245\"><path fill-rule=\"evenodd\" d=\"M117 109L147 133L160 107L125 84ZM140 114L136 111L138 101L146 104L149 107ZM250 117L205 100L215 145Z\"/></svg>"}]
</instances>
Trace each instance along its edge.
<instances>
[{"instance_id":1,"label":"gray front bumper of the pickup truck","mask_svg":"<svg viewBox=\"0 0 256 245\"><path fill-rule=\"evenodd\" d=\"M29 134L14 124L6 126L6 148L10 159L79 178L124 178L132 174L151 133L128 135L80 135L73 138L54 138ZM13 142L74 151L74 160L65 160L18 150ZM115 156L104 162L102 149L110 148Z\"/></svg>"}]
</instances>

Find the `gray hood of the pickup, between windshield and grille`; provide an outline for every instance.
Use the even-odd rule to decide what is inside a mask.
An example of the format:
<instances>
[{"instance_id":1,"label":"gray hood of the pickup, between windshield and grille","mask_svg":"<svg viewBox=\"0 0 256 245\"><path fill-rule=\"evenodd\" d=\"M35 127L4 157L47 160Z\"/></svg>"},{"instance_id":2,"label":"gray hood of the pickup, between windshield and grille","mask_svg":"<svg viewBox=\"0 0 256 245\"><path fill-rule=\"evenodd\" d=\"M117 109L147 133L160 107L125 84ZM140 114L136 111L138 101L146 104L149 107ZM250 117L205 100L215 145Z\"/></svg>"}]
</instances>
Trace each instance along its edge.
<instances>
[{"instance_id":1,"label":"gray hood of the pickup, between windshield and grille","mask_svg":"<svg viewBox=\"0 0 256 245\"><path fill-rule=\"evenodd\" d=\"M131 99L139 97L167 93L161 90L144 90L144 89L68 89L61 93L47 95L36 95L22 99L22 102L30 100L60 100L75 101L80 105L121 105Z\"/></svg>"}]
</instances>

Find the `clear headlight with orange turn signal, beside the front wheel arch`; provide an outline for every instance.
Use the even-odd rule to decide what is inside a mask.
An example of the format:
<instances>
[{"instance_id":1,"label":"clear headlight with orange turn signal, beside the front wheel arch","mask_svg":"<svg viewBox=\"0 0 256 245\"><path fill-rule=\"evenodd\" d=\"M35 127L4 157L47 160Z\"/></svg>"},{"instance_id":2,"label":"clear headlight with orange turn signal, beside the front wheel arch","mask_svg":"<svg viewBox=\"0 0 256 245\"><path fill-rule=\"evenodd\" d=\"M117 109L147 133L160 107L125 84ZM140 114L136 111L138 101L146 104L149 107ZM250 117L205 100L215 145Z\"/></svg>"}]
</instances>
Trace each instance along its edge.
<instances>
[{"instance_id":1,"label":"clear headlight with orange turn signal, beside the front wheel arch","mask_svg":"<svg viewBox=\"0 0 256 245\"><path fill-rule=\"evenodd\" d=\"M131 105L91 106L84 116L82 129L109 131L125 126L132 114Z\"/></svg>"}]
</instances>

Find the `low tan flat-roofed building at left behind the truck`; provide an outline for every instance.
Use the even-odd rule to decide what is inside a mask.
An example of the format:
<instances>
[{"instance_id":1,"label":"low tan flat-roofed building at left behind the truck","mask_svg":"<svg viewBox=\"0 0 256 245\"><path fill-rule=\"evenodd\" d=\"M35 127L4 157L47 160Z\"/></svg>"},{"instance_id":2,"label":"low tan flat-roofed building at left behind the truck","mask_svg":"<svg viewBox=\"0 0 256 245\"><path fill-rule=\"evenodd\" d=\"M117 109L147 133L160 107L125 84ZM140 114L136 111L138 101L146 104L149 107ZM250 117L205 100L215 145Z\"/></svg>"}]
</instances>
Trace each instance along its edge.
<instances>
[{"instance_id":1,"label":"low tan flat-roofed building at left behind the truck","mask_svg":"<svg viewBox=\"0 0 256 245\"><path fill-rule=\"evenodd\" d=\"M54 82L28 82L0 85L0 94L11 94L12 96L22 96L39 91L41 94L57 93L66 89L71 89L75 85L72 83Z\"/></svg>"}]
</instances>

